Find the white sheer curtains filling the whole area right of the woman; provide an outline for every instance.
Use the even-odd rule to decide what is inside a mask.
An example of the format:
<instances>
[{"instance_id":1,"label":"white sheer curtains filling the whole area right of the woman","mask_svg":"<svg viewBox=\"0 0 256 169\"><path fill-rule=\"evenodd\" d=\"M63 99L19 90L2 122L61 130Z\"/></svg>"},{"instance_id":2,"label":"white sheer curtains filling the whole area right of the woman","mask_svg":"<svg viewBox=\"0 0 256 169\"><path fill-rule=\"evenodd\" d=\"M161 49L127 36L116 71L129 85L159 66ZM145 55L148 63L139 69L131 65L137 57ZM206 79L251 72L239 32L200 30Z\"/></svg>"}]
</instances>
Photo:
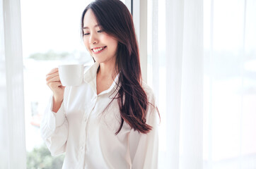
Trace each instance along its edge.
<instances>
[{"instance_id":1,"label":"white sheer curtains filling the whole area right of the woman","mask_svg":"<svg viewBox=\"0 0 256 169\"><path fill-rule=\"evenodd\" d=\"M256 168L256 2L148 3L159 168Z\"/></svg>"}]
</instances>

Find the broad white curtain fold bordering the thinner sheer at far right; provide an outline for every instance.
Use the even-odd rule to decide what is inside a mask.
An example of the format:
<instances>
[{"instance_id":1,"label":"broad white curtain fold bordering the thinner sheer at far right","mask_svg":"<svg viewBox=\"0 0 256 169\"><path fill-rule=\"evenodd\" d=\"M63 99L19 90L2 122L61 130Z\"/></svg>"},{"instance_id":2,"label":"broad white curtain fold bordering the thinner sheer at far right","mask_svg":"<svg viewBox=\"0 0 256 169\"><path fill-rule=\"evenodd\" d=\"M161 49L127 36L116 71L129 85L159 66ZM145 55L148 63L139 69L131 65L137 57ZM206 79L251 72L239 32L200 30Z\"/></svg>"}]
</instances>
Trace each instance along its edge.
<instances>
[{"instance_id":1,"label":"broad white curtain fold bordering the thinner sheer at far right","mask_svg":"<svg viewBox=\"0 0 256 169\"><path fill-rule=\"evenodd\" d=\"M202 168L203 162L203 0L184 3L180 113L180 168Z\"/></svg>"}]
</instances>

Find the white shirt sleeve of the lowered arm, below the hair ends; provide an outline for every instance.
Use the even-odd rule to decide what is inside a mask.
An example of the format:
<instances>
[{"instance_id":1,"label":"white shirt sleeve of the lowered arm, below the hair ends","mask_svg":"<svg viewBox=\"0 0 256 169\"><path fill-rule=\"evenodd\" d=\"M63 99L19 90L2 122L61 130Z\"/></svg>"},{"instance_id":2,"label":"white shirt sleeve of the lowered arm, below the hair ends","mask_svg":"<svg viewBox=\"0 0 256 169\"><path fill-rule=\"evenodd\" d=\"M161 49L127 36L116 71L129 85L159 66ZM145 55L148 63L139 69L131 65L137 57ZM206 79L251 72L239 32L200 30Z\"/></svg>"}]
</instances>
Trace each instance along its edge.
<instances>
[{"instance_id":1,"label":"white shirt sleeve of the lowered arm, below the hair ends","mask_svg":"<svg viewBox=\"0 0 256 169\"><path fill-rule=\"evenodd\" d=\"M154 104L153 104L154 105ZM148 134L132 130L129 135L129 150L133 169L158 168L158 111L156 106L149 104L146 124L152 130Z\"/></svg>"}]
</instances>

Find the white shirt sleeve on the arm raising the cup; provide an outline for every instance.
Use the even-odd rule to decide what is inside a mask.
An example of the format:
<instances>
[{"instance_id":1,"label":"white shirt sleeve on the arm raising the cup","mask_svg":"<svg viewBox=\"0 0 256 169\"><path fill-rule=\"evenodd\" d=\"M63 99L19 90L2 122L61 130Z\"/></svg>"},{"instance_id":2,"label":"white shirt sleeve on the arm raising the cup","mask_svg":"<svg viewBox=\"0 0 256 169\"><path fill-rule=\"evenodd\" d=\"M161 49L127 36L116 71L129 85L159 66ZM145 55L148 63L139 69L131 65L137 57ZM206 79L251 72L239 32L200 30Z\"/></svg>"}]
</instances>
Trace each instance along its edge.
<instances>
[{"instance_id":1,"label":"white shirt sleeve on the arm raising the cup","mask_svg":"<svg viewBox=\"0 0 256 169\"><path fill-rule=\"evenodd\" d=\"M40 132L52 156L57 156L66 151L69 123L66 120L64 101L62 101L62 105L57 113L52 111L52 104L53 96L51 96L45 114L43 115Z\"/></svg>"}]
</instances>

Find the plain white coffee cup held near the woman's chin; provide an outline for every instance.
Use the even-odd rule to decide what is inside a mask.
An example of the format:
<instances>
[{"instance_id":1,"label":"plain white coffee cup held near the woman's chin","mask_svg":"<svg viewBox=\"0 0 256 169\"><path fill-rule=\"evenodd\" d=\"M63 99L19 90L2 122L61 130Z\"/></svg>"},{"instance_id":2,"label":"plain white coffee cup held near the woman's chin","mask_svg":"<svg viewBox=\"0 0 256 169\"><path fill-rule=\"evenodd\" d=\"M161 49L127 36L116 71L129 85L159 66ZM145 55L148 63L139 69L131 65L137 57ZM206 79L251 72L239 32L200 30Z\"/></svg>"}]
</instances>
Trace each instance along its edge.
<instances>
[{"instance_id":1,"label":"plain white coffee cup held near the woman's chin","mask_svg":"<svg viewBox=\"0 0 256 169\"><path fill-rule=\"evenodd\" d=\"M62 86L79 86L83 83L83 64L59 65Z\"/></svg>"}]
</instances>

